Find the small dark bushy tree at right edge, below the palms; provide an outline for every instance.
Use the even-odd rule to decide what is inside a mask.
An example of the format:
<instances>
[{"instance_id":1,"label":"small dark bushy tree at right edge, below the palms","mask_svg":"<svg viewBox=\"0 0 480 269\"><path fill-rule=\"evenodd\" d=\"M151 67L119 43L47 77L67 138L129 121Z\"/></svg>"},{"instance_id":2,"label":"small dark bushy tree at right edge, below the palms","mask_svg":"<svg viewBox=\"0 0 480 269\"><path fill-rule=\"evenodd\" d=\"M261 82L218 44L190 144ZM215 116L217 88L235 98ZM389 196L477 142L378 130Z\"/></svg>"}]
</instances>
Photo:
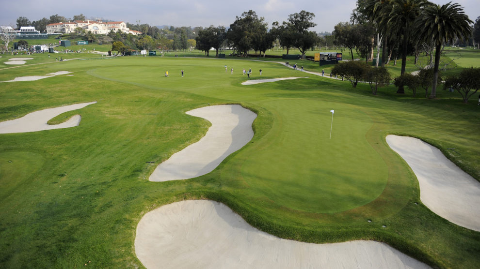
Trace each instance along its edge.
<instances>
[{"instance_id":1,"label":"small dark bushy tree at right edge, below the palms","mask_svg":"<svg viewBox=\"0 0 480 269\"><path fill-rule=\"evenodd\" d=\"M467 104L468 98L480 89L480 68L465 68L458 75L448 76L444 89L448 88L458 91Z\"/></svg>"}]
</instances>

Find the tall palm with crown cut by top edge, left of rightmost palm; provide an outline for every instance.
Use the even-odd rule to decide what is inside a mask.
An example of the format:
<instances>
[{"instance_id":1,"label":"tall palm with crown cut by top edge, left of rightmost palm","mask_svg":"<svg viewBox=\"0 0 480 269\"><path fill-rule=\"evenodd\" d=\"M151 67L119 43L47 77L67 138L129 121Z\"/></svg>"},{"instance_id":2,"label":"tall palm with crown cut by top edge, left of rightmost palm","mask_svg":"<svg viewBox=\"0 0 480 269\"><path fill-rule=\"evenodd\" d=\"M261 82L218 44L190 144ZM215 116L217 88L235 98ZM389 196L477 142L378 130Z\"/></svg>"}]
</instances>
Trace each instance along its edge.
<instances>
[{"instance_id":1,"label":"tall palm with crown cut by top edge, left of rightmost palm","mask_svg":"<svg viewBox=\"0 0 480 269\"><path fill-rule=\"evenodd\" d=\"M411 30L421 9L427 4L427 0L391 0L392 8L388 16L383 17L383 23L391 34L402 36L402 58L400 75L405 74L407 64L407 46L411 39ZM397 93L405 93L403 87L399 87Z\"/></svg>"}]
</instances>

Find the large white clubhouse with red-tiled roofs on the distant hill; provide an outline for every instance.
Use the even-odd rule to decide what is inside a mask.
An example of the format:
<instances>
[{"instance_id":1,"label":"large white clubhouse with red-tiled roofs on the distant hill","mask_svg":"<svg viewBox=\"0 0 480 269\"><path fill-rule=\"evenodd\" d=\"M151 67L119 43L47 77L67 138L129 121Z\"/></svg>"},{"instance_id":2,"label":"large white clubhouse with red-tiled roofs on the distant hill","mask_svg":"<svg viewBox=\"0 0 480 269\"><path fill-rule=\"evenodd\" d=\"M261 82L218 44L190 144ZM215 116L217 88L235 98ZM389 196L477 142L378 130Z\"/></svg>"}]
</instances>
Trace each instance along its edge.
<instances>
[{"instance_id":1,"label":"large white clubhouse with red-tiled roofs on the distant hill","mask_svg":"<svg viewBox=\"0 0 480 269\"><path fill-rule=\"evenodd\" d=\"M101 20L77 20L74 22L50 23L47 25L47 34L71 33L77 28L84 29L94 34L108 34L110 31L131 33L139 35L142 32L130 30L123 21L102 22Z\"/></svg>"}]
</instances>

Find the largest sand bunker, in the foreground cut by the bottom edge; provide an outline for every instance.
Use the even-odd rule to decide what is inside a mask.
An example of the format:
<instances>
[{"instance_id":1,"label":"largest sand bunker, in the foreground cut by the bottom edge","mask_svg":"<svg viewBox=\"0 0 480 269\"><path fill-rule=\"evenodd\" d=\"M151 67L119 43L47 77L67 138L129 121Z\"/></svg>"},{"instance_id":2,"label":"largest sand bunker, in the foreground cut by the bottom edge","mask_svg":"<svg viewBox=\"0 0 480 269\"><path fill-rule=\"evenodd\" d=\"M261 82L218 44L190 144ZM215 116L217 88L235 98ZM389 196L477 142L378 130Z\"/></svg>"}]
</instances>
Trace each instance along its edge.
<instances>
[{"instance_id":1,"label":"largest sand bunker, in the foreground cut by the bottom edge","mask_svg":"<svg viewBox=\"0 0 480 269\"><path fill-rule=\"evenodd\" d=\"M182 201L144 215L135 253L146 268L428 268L376 241L312 244L280 239L223 204Z\"/></svg>"}]
</instances>

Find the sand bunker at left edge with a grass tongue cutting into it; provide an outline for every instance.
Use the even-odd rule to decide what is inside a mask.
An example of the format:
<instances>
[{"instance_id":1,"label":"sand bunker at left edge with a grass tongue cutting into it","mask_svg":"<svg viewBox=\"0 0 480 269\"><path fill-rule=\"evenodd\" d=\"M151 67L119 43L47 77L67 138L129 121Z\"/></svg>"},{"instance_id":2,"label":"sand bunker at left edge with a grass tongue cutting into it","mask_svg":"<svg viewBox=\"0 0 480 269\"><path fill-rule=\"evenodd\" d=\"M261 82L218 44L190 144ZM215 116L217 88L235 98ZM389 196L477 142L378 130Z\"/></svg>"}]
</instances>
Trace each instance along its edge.
<instances>
[{"instance_id":1,"label":"sand bunker at left edge with a grass tongue cutting into it","mask_svg":"<svg viewBox=\"0 0 480 269\"><path fill-rule=\"evenodd\" d=\"M22 118L2 121L0 122L0 134L37 132L43 130L62 129L78 126L81 120L80 115L73 116L69 120L56 125L49 125L47 124L47 122L48 120L67 111L80 109L87 105L95 103L96 102L89 102L75 105L65 105L55 108L47 108L29 113Z\"/></svg>"}]
</instances>

